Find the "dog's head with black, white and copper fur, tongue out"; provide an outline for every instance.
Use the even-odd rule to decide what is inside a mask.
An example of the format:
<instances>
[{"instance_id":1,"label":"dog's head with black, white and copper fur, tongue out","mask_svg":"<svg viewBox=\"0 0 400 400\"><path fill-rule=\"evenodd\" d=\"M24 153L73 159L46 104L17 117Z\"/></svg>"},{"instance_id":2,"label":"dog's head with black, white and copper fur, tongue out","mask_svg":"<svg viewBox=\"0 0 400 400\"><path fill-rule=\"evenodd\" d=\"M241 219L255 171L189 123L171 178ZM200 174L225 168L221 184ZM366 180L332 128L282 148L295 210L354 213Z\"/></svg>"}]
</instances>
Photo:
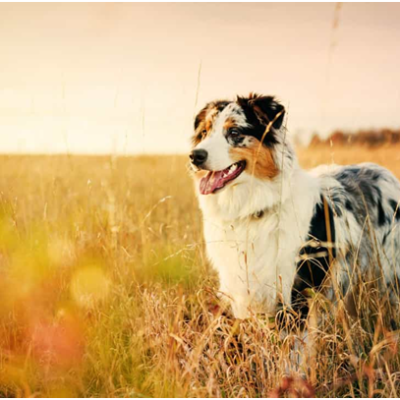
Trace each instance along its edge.
<instances>
[{"instance_id":1,"label":"dog's head with black, white and copper fur, tongue out","mask_svg":"<svg viewBox=\"0 0 400 400\"><path fill-rule=\"evenodd\" d=\"M280 171L284 107L271 96L250 94L208 103L196 116L190 160L199 192L211 195L249 181L271 181Z\"/></svg>"}]
</instances>

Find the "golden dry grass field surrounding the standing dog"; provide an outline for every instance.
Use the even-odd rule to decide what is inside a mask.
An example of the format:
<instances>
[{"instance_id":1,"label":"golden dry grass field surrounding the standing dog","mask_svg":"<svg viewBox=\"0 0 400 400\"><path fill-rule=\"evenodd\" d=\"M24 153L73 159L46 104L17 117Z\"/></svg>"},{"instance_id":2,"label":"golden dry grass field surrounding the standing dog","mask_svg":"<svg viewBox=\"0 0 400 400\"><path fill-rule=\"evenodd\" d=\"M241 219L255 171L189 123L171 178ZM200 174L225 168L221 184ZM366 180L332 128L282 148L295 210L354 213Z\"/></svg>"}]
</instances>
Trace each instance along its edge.
<instances>
[{"instance_id":1,"label":"golden dry grass field surrounding the standing dog","mask_svg":"<svg viewBox=\"0 0 400 400\"><path fill-rule=\"evenodd\" d=\"M304 167L332 161L400 178L399 147L300 152ZM398 337L373 288L362 320L316 300L304 380L283 378L290 335L221 315L185 157L0 163L1 396L400 395Z\"/></svg>"}]
</instances>

